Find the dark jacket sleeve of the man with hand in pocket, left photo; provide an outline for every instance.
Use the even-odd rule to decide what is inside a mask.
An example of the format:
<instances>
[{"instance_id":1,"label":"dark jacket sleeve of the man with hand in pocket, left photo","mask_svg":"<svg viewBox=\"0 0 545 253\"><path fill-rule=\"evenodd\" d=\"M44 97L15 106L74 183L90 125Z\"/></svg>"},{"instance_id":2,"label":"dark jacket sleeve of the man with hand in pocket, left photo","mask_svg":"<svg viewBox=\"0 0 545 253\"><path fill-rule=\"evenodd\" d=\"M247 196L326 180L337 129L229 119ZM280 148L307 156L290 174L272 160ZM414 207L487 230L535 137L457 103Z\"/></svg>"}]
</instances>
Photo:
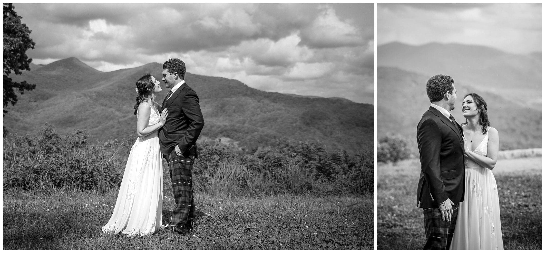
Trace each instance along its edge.
<instances>
[{"instance_id":1,"label":"dark jacket sleeve of the man with hand in pocket, left photo","mask_svg":"<svg viewBox=\"0 0 545 253\"><path fill-rule=\"evenodd\" d=\"M199 134L201 134L204 119L199 105L199 98L195 91L191 90L185 94L181 106L187 121L189 121L189 127L187 127L184 137L178 143L178 147L184 153L192 149Z\"/></svg>"}]
</instances>

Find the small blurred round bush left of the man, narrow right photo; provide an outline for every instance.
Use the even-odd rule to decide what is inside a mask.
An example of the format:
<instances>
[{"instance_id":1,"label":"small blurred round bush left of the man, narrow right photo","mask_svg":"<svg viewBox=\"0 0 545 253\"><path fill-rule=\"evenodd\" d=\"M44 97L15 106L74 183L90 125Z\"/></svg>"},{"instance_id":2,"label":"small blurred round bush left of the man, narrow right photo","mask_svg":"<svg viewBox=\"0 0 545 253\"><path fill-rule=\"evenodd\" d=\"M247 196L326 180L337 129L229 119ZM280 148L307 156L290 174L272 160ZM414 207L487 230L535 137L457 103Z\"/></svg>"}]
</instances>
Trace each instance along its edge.
<instances>
[{"instance_id":1,"label":"small blurred round bush left of the man, narrow right photo","mask_svg":"<svg viewBox=\"0 0 545 253\"><path fill-rule=\"evenodd\" d=\"M410 156L408 141L401 135L386 134L377 145L377 162L392 162L407 159Z\"/></svg>"}]
</instances>

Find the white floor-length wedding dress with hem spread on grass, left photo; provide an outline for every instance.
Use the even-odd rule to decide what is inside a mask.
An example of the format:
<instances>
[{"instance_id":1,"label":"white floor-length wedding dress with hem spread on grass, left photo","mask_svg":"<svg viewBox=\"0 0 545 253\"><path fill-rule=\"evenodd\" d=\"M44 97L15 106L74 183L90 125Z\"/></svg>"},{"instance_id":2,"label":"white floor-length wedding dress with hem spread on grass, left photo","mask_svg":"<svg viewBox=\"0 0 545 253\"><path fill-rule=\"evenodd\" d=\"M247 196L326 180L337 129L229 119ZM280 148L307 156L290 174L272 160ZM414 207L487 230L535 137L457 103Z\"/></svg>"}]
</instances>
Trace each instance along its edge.
<instances>
[{"instance_id":1,"label":"white floor-length wedding dress with hem spread on grass, left photo","mask_svg":"<svg viewBox=\"0 0 545 253\"><path fill-rule=\"evenodd\" d=\"M158 122L159 112L152 106L148 126ZM139 137L129 153L116 207L102 232L132 237L151 235L164 227L162 170L158 133Z\"/></svg>"}]
</instances>

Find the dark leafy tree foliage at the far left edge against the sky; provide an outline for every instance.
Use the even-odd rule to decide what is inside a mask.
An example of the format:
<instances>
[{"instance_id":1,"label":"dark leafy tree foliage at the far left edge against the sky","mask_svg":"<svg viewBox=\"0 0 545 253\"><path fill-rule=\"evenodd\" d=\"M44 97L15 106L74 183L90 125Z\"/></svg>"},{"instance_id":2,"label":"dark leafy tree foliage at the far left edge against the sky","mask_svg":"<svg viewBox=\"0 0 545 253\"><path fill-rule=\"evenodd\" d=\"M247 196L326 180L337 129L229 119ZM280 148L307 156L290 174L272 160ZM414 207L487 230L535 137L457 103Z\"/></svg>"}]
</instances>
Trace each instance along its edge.
<instances>
[{"instance_id":1,"label":"dark leafy tree foliage at the far left edge against the sky","mask_svg":"<svg viewBox=\"0 0 545 253\"><path fill-rule=\"evenodd\" d=\"M32 59L27 57L26 51L28 48L34 49L35 43L29 36L31 32L26 24L21 23L21 16L17 15L13 4L4 3L4 107L17 103L15 89L23 94L25 90L36 88L35 84L14 82L8 77L11 72L21 75L22 70L30 70ZM4 109L5 113L7 111Z\"/></svg>"}]
</instances>

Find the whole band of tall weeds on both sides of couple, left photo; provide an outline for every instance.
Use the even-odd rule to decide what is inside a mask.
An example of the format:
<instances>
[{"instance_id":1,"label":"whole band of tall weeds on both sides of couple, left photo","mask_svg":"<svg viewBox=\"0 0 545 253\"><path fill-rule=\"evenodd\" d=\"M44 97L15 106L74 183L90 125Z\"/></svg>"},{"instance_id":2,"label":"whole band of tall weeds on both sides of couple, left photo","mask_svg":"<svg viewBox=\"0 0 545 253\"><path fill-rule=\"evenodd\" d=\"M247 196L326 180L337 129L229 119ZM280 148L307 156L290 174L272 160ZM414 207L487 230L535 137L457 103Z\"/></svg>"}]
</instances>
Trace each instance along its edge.
<instances>
[{"instance_id":1,"label":"whole band of tall weeds on both sides of couple, left photo","mask_svg":"<svg viewBox=\"0 0 545 253\"><path fill-rule=\"evenodd\" d=\"M99 193L116 189L130 143L117 139L93 142L84 131L60 136L49 124L33 136L9 134L4 138L4 187L93 189ZM238 150L209 141L199 144L199 155L193 167L198 191L228 195L373 192L371 150L326 152L320 143L286 139L271 147Z\"/></svg>"}]
</instances>

